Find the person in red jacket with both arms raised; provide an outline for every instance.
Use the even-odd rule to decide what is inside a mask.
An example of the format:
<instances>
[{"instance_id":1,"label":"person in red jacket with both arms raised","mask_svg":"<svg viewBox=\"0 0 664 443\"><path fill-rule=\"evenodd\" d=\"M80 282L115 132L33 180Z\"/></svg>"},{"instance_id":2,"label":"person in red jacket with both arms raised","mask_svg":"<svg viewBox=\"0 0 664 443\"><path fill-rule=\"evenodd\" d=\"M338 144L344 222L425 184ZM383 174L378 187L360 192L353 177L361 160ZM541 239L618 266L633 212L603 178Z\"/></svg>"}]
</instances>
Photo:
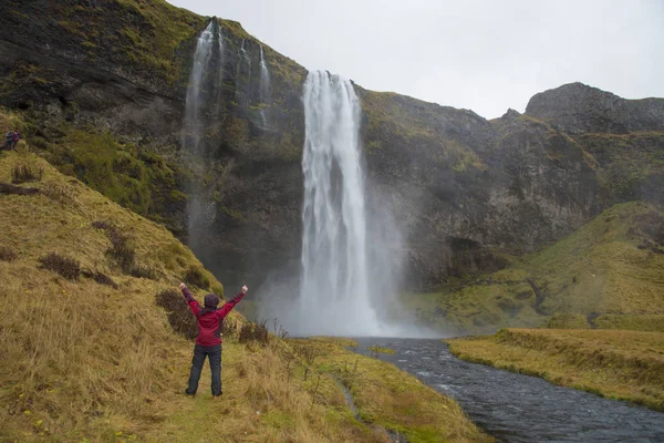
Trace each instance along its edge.
<instances>
[{"instance_id":1,"label":"person in red jacket with both arms raised","mask_svg":"<svg viewBox=\"0 0 664 443\"><path fill-rule=\"evenodd\" d=\"M191 372L189 373L189 383L185 391L188 395L195 395L198 390L198 380L200 380L200 371L205 363L206 356L210 361L210 370L212 372L212 396L221 395L221 329L224 318L235 308L235 306L247 293L247 287L242 286L241 292L228 300L221 309L217 309L219 297L214 293L205 296L205 307L200 307L198 301L194 299L189 289L185 284L180 284L179 288L189 303L189 309L198 320L198 338L194 347L194 359L191 360Z\"/></svg>"}]
</instances>

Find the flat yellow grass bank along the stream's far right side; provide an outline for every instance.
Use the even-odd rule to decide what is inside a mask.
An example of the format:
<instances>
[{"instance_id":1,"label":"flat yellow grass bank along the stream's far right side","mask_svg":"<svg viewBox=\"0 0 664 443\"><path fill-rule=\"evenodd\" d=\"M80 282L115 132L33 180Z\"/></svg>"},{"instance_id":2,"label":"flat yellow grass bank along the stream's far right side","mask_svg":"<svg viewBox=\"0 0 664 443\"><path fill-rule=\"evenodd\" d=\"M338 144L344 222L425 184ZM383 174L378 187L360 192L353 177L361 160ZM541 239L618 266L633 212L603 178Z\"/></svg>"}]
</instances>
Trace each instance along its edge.
<instances>
[{"instance_id":1,"label":"flat yellow grass bank along the stream's far right side","mask_svg":"<svg viewBox=\"0 0 664 443\"><path fill-rule=\"evenodd\" d=\"M448 343L464 360L664 411L662 332L504 329Z\"/></svg>"}]
</instances>

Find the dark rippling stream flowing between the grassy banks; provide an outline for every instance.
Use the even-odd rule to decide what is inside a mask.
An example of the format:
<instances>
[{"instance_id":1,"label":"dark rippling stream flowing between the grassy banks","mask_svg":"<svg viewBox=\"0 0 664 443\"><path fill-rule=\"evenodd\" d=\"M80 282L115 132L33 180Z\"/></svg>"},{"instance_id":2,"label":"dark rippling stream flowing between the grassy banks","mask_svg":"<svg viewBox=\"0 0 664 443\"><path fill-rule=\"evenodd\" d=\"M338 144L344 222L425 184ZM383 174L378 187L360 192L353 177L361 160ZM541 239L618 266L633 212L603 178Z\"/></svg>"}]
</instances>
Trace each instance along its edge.
<instances>
[{"instance_id":1,"label":"dark rippling stream flowing between the grassy banks","mask_svg":"<svg viewBox=\"0 0 664 443\"><path fill-rule=\"evenodd\" d=\"M440 340L363 338L396 351L380 359L454 398L500 442L664 442L664 413L542 379L468 363Z\"/></svg>"}]
</instances>

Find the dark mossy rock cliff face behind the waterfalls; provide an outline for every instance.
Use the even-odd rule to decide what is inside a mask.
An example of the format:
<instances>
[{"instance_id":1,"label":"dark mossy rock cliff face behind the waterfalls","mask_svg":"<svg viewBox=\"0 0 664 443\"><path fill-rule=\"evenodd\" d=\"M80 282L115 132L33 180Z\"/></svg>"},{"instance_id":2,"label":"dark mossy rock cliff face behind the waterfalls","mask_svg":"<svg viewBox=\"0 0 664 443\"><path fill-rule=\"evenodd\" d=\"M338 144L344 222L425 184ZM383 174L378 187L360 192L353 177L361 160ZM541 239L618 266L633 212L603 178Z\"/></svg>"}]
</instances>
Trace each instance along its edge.
<instances>
[{"instance_id":1,"label":"dark mossy rock cliff face behind the waterfalls","mask_svg":"<svg viewBox=\"0 0 664 443\"><path fill-rule=\"evenodd\" d=\"M226 284L298 269L302 66L263 45L271 90L261 99L260 42L220 21L218 117L191 158L180 136L206 19L157 0L8 1L0 13L12 17L0 30L0 103L22 110L41 155L181 238L195 185L205 206L195 249ZM664 100L574 83L487 121L356 92L370 206L395 215L413 287L497 270L615 202L663 203Z\"/></svg>"}]
</instances>

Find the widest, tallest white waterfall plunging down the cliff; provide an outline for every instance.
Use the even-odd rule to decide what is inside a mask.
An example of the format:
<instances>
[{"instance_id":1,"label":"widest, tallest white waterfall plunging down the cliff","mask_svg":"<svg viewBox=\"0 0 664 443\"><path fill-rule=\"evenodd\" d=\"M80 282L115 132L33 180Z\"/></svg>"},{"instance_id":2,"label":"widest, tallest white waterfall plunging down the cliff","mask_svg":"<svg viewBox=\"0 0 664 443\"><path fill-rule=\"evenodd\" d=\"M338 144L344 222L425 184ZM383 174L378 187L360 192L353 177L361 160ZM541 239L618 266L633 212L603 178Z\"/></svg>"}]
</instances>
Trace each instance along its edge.
<instances>
[{"instance_id":1,"label":"widest, tallest white waterfall plunging down the cliff","mask_svg":"<svg viewBox=\"0 0 664 443\"><path fill-rule=\"evenodd\" d=\"M304 83L302 279L298 334L380 334L367 278L360 102L350 81Z\"/></svg>"}]
</instances>

